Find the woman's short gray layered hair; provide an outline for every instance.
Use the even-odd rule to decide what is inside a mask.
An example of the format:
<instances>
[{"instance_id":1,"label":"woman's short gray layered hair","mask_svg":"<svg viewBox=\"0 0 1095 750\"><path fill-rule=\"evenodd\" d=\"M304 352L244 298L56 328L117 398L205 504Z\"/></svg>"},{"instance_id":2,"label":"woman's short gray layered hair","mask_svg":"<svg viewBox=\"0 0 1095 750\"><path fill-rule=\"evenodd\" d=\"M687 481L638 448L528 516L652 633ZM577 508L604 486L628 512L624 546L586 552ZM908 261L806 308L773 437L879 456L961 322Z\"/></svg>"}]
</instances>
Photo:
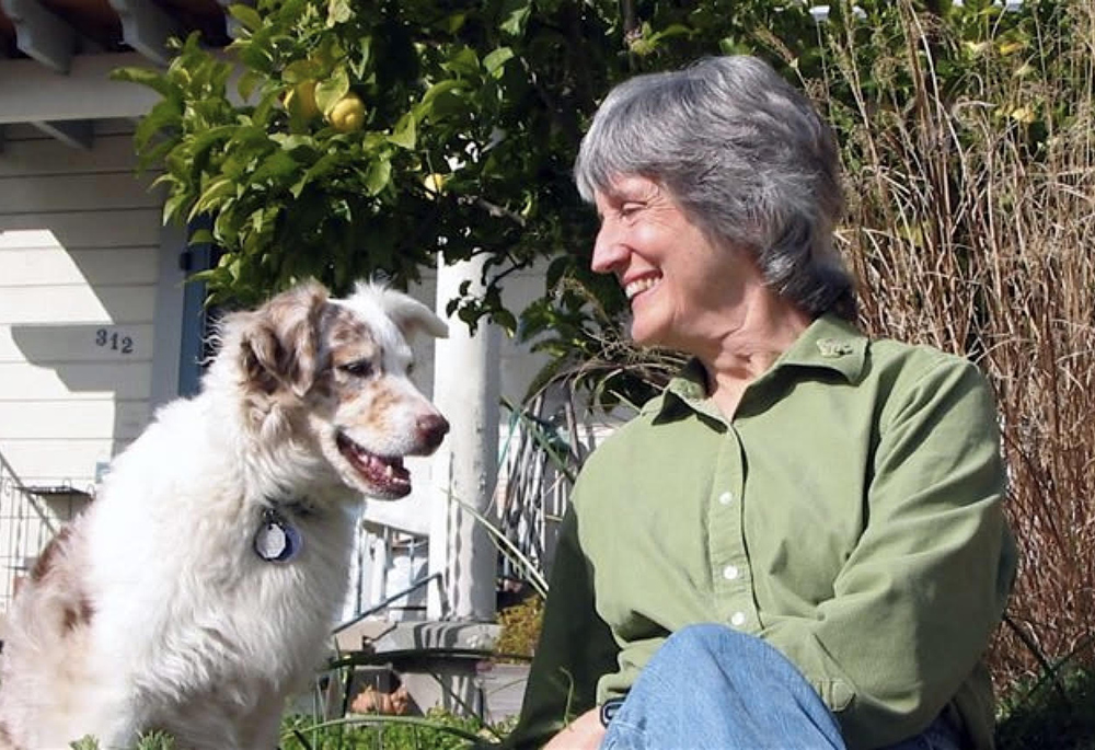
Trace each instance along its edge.
<instances>
[{"instance_id":1,"label":"woman's short gray layered hair","mask_svg":"<svg viewBox=\"0 0 1095 750\"><path fill-rule=\"evenodd\" d=\"M811 316L856 316L832 242L843 210L832 131L800 92L749 56L712 57L615 86L575 164L586 200L627 175L654 180L716 242L753 254Z\"/></svg>"}]
</instances>

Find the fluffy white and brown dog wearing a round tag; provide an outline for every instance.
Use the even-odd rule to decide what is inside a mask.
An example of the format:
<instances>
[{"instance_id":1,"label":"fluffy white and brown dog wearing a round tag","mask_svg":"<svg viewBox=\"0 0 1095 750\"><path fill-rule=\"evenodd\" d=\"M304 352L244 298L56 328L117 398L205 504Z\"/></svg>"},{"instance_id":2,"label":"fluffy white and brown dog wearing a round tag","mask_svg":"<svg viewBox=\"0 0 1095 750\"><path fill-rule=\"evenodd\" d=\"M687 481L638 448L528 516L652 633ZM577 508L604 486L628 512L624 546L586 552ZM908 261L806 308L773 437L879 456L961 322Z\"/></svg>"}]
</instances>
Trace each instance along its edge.
<instances>
[{"instance_id":1,"label":"fluffy white and brown dog wearing a round tag","mask_svg":"<svg viewBox=\"0 0 1095 750\"><path fill-rule=\"evenodd\" d=\"M362 494L407 495L403 457L448 431L408 378L417 333L447 326L370 282L227 315L200 393L157 412L15 597L0 748L154 730L180 750L276 748L322 665Z\"/></svg>"}]
</instances>

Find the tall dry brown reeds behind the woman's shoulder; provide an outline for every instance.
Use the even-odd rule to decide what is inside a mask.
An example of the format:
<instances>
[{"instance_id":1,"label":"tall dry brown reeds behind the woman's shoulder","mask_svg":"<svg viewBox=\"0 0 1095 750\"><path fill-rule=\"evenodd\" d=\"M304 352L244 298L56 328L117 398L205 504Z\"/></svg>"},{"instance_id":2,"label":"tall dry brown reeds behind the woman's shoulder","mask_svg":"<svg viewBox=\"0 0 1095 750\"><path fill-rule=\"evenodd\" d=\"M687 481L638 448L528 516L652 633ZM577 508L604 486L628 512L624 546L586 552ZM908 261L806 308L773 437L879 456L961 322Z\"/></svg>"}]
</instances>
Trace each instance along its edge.
<instances>
[{"instance_id":1,"label":"tall dry brown reeds behind the woman's shoulder","mask_svg":"<svg viewBox=\"0 0 1095 750\"><path fill-rule=\"evenodd\" d=\"M1002 692L1095 653L1095 4L1029 4L986 45L900 0L899 44L838 31L822 82L854 94L828 103L851 124L840 239L866 327L995 389L1021 551Z\"/></svg>"}]
</instances>

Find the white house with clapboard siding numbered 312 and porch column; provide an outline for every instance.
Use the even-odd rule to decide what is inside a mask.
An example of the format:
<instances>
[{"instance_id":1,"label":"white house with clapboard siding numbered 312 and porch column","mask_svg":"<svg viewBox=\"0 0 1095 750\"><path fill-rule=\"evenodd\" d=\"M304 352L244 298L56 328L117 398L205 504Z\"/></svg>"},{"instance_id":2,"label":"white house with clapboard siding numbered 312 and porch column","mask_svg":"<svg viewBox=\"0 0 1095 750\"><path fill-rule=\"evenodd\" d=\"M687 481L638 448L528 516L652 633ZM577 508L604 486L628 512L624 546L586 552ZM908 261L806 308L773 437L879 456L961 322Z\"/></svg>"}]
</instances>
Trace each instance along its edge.
<instances>
[{"instance_id":1,"label":"white house with clapboard siding numbered 312 and porch column","mask_svg":"<svg viewBox=\"0 0 1095 750\"><path fill-rule=\"evenodd\" d=\"M165 41L193 30L226 44L228 4L0 0L0 611L58 524L93 501L111 459L159 405L198 386L204 293L184 281L208 252L187 250L180 228L161 226L164 196L136 173L135 123L155 95L108 74L162 65ZM413 293L443 310L461 274L442 269ZM508 301L519 307L542 288L539 274L516 277ZM475 532L480 573L460 586L445 573L454 565L447 551L472 547L435 543L427 553L424 541L472 533L474 521L454 520L443 496L464 472L474 503L491 500L498 397L519 400L539 362L497 330L453 328L436 353L428 343L418 351L425 389L457 412L453 435L443 455L412 466L427 480L412 498L368 505L347 616L427 568L448 587L434 587L435 615L493 615L489 540ZM443 359L437 382L435 354ZM429 480L437 465L448 472L443 492ZM477 588L475 602L454 593L461 586Z\"/></svg>"}]
</instances>

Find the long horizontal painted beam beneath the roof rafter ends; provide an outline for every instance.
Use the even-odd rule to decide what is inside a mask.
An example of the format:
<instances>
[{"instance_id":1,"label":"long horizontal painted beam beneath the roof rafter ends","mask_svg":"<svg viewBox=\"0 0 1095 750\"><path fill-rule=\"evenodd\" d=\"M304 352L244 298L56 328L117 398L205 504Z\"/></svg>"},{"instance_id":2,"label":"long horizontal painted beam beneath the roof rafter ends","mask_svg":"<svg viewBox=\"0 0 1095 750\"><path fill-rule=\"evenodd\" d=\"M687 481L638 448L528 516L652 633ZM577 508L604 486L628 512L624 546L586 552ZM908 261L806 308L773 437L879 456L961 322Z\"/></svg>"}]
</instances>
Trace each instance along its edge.
<instances>
[{"instance_id":1,"label":"long horizontal painted beam beneath the roof rafter ends","mask_svg":"<svg viewBox=\"0 0 1095 750\"><path fill-rule=\"evenodd\" d=\"M137 53L76 55L68 76L35 60L0 59L0 125L141 117L160 95L148 86L112 81L120 67L149 67Z\"/></svg>"}]
</instances>

